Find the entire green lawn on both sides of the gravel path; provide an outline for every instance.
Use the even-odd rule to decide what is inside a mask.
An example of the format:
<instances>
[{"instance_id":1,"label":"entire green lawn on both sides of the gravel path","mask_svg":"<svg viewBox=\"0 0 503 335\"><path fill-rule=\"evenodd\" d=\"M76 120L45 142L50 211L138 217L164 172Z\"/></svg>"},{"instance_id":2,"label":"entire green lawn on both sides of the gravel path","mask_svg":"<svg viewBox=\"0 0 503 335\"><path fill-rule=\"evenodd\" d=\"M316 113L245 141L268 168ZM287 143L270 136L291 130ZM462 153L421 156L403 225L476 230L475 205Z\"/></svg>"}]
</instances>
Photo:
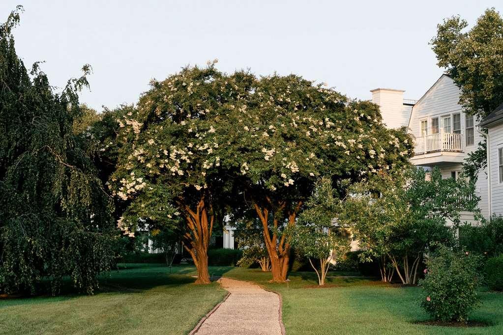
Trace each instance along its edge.
<instances>
[{"instance_id":1,"label":"entire green lawn on both sides of the gravel path","mask_svg":"<svg viewBox=\"0 0 503 335\"><path fill-rule=\"evenodd\" d=\"M0 300L0 332L6 333L187 333L225 295L216 283L192 284L194 267L171 270L125 264L103 279L94 296ZM383 285L371 278L335 276L317 288L313 273L293 272L288 284L271 284L258 269L210 267L214 276L254 281L283 298L290 334L488 334L503 333L503 295L480 292L472 319L488 327L449 328L415 324L428 315L418 306L421 289Z\"/></svg>"}]
</instances>

